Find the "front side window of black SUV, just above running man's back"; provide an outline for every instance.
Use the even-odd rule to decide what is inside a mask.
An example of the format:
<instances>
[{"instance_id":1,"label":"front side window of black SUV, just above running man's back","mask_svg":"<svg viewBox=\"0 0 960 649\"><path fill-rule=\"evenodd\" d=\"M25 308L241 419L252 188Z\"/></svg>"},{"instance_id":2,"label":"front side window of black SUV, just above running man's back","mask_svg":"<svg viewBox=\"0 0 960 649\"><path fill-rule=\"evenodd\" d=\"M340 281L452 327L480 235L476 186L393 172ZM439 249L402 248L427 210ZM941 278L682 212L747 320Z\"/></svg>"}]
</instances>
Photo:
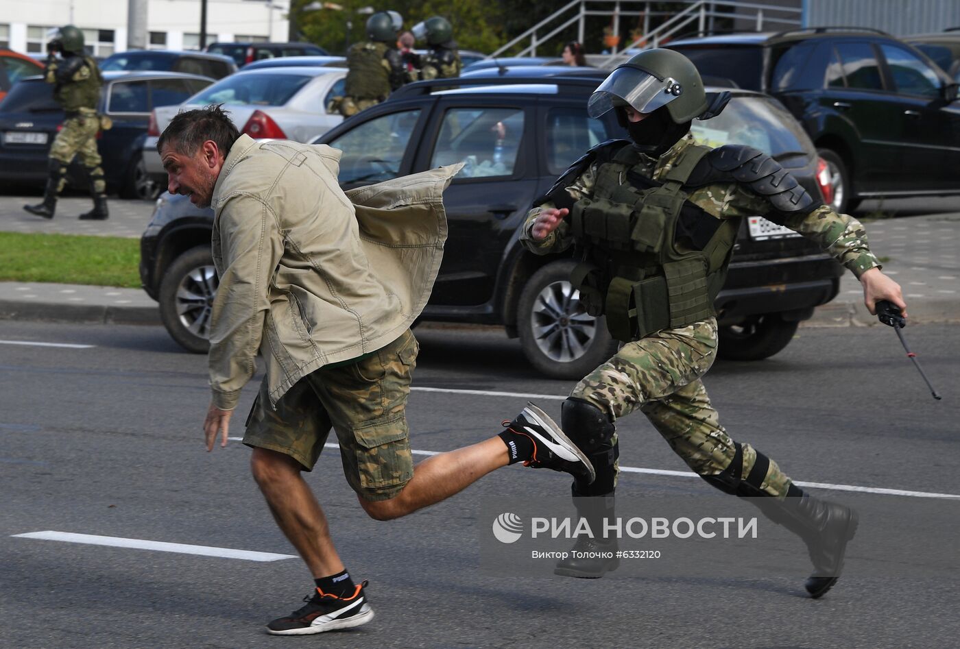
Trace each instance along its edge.
<instances>
[{"instance_id":1,"label":"front side window of black SUV, just above running man's back","mask_svg":"<svg viewBox=\"0 0 960 649\"><path fill-rule=\"evenodd\" d=\"M329 144L340 149L341 184L396 178L420 109L381 115L358 125Z\"/></svg>"}]
</instances>

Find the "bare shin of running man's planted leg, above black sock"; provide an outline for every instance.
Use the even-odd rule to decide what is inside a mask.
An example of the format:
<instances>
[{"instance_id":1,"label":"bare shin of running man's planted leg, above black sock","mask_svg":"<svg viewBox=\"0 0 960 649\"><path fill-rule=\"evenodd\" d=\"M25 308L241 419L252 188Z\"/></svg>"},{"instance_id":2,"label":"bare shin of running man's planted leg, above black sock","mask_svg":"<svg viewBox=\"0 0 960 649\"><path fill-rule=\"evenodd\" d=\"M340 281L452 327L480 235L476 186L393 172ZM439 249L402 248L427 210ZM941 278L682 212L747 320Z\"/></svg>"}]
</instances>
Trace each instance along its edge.
<instances>
[{"instance_id":1,"label":"bare shin of running man's planted leg, above black sock","mask_svg":"<svg viewBox=\"0 0 960 649\"><path fill-rule=\"evenodd\" d=\"M330 538L324 510L303 480L300 463L273 450L254 448L251 470L276 524L314 579L342 572L344 564Z\"/></svg>"}]
</instances>

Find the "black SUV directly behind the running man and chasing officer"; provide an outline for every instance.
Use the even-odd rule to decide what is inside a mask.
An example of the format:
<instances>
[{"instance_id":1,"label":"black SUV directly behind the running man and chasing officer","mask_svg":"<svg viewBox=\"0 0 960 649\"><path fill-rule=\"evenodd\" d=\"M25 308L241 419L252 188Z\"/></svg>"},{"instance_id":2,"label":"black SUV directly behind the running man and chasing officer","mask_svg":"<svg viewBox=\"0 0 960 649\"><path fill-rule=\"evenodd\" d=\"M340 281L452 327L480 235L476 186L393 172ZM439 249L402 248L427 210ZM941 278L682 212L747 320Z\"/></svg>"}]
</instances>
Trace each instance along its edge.
<instances>
[{"instance_id":1,"label":"black SUV directly behind the running man and chasing officer","mask_svg":"<svg viewBox=\"0 0 960 649\"><path fill-rule=\"evenodd\" d=\"M423 320L503 325L541 372L574 378L612 353L605 323L588 316L569 282L570 253L538 256L519 244L533 200L591 146L626 133L608 113L589 119L593 77L449 79L406 85L319 138L341 149L344 188L465 162L444 193L449 235ZM820 197L817 157L778 101L732 90L694 135L711 146L749 144L774 156ZM141 240L140 274L163 322L186 349L206 349L217 279L212 212L164 194ZM836 296L841 267L789 230L745 220L725 289L720 353L758 359L783 349L813 307Z\"/></svg>"}]
</instances>

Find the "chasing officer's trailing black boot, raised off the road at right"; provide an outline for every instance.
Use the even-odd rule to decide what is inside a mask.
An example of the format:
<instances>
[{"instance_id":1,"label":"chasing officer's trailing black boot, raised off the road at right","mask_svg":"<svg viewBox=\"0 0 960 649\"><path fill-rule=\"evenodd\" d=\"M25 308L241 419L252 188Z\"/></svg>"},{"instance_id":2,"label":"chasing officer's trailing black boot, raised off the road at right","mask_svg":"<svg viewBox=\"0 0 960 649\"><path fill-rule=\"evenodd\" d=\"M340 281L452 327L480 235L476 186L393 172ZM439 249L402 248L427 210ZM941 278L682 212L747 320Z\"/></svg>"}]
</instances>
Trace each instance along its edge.
<instances>
[{"instance_id":1,"label":"chasing officer's trailing black boot, raised off the road at right","mask_svg":"<svg viewBox=\"0 0 960 649\"><path fill-rule=\"evenodd\" d=\"M791 485L783 500L751 498L763 514L787 528L806 543L813 573L804 587L814 599L833 588L847 552L847 543L856 534L856 512L846 505L821 500ZM794 493L798 495L794 495Z\"/></svg>"}]
</instances>

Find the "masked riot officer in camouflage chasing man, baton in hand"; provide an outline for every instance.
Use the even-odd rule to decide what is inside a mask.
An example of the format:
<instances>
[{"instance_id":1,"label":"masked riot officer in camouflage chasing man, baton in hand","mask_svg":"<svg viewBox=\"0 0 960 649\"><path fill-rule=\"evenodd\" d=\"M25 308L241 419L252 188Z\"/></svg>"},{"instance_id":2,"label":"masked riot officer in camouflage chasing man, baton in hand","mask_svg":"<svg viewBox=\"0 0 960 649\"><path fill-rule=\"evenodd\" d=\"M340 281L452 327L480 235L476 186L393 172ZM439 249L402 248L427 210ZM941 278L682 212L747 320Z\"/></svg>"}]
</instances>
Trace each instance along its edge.
<instances>
[{"instance_id":1,"label":"masked riot officer in camouflage chasing man, baton in hand","mask_svg":"<svg viewBox=\"0 0 960 649\"><path fill-rule=\"evenodd\" d=\"M877 300L905 303L851 216L820 204L756 149L711 150L693 141L691 120L719 113L729 100L721 93L708 102L696 68L677 52L648 50L617 67L590 96L588 113L615 110L630 139L601 143L577 160L535 202L521 239L540 254L577 244L582 260L571 279L588 313L606 316L612 336L623 342L562 406L564 432L596 471L592 484L573 483L582 516L613 517L615 422L639 410L710 485L751 496L764 515L803 539L814 567L805 588L820 597L839 576L856 514L804 493L774 460L734 442L720 425L701 382L717 348L713 300L742 217L762 214L847 266L871 313ZM579 550L610 550L616 540L577 543ZM556 572L596 578L618 562L574 556Z\"/></svg>"}]
</instances>

